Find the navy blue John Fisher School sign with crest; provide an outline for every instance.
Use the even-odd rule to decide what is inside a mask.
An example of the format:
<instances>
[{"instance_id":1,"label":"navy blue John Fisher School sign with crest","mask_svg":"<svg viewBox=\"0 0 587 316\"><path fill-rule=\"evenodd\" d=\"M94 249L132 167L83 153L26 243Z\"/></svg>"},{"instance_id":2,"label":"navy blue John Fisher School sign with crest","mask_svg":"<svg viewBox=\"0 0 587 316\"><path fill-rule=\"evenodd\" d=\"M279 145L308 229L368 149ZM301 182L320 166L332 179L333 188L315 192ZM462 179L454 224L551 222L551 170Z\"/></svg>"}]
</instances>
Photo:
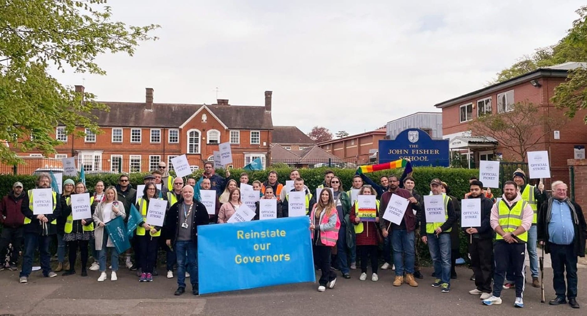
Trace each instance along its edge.
<instances>
[{"instance_id":1,"label":"navy blue John Fisher School sign with crest","mask_svg":"<svg viewBox=\"0 0 587 316\"><path fill-rule=\"evenodd\" d=\"M421 129L406 129L394 140L379 141L379 163L407 158L412 166L448 167L448 139L432 139Z\"/></svg>"}]
</instances>

